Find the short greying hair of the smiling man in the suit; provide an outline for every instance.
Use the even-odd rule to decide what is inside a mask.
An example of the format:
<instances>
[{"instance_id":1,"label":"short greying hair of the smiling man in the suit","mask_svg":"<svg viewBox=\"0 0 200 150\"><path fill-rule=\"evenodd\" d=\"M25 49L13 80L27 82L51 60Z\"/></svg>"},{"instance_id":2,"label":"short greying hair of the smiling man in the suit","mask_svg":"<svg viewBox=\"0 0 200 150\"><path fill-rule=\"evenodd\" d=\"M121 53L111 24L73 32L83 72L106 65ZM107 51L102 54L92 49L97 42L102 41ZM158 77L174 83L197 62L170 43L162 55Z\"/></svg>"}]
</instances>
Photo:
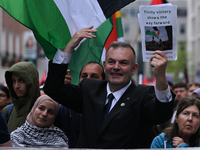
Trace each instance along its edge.
<instances>
[{"instance_id":1,"label":"short greying hair of the smiling man in the suit","mask_svg":"<svg viewBox=\"0 0 200 150\"><path fill-rule=\"evenodd\" d=\"M130 48L130 49L132 50L132 52L133 52L133 66L134 66L135 63L136 63L136 53L135 53L134 48L133 48L129 43L126 43L126 42L118 42L118 41L112 42L112 43L109 45L108 49L106 50L106 54L107 54L107 52L108 52L108 50L109 50L110 48L118 48L118 47ZM106 54L105 54L105 55L106 55ZM105 56L105 58L106 58L106 56ZM105 59L105 60L106 60L106 59Z\"/></svg>"}]
</instances>

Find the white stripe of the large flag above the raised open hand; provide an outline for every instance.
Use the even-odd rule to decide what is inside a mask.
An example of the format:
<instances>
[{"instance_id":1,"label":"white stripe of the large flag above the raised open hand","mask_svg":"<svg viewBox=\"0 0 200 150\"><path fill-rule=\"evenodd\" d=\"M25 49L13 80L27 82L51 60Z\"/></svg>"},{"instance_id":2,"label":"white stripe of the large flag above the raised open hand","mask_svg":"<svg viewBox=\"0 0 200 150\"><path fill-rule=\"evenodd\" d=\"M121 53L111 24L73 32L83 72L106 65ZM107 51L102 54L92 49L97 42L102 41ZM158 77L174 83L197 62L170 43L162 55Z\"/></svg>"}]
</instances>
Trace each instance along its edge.
<instances>
[{"instance_id":1,"label":"white stripe of the large flag above the raised open hand","mask_svg":"<svg viewBox=\"0 0 200 150\"><path fill-rule=\"evenodd\" d=\"M97 29L105 20L97 0L54 0L63 15L71 36L82 28L93 25Z\"/></svg>"}]
</instances>

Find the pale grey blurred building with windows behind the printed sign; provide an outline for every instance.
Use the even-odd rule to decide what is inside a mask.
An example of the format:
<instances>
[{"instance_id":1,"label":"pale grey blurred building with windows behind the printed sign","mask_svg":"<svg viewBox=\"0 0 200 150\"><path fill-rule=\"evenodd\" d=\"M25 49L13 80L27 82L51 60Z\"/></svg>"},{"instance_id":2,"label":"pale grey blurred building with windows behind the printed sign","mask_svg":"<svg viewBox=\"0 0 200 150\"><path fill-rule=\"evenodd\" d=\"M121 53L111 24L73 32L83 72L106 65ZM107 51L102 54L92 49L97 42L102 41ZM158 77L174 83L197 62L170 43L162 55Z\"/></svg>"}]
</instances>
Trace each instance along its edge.
<instances>
[{"instance_id":1,"label":"pale grey blurred building with windows behind the printed sign","mask_svg":"<svg viewBox=\"0 0 200 150\"><path fill-rule=\"evenodd\" d=\"M187 1L186 0L167 0L167 2L177 5L177 44L186 51L187 41ZM136 50L139 68L135 80L139 82L139 74L144 77L152 78L152 67L150 63L143 62L141 35L137 14L141 5L150 5L151 0L137 0L121 10L122 24L125 41L130 43ZM170 74L170 73L169 73Z\"/></svg>"}]
</instances>

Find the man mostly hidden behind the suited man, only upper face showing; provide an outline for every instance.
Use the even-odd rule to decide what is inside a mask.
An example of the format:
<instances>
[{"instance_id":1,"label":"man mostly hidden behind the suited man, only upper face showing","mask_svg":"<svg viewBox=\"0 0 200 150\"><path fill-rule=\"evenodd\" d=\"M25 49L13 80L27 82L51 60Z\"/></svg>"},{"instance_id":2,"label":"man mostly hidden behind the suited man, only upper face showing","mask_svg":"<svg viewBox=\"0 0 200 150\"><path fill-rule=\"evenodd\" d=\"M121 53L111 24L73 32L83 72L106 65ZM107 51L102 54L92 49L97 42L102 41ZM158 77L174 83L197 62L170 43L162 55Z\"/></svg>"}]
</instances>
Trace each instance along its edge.
<instances>
[{"instance_id":1,"label":"man mostly hidden behind the suited man, only upper face showing","mask_svg":"<svg viewBox=\"0 0 200 150\"><path fill-rule=\"evenodd\" d=\"M88 62L80 71L79 83L84 78L104 80L105 73L103 71L103 66L97 62L90 61ZM64 83L71 84L72 77L70 76L70 70L67 70L65 75ZM54 126L59 127L62 131L65 132L69 141L69 148L76 148L78 143L78 138L81 129L82 115L68 109L67 107L60 105L58 115L54 121Z\"/></svg>"}]
</instances>

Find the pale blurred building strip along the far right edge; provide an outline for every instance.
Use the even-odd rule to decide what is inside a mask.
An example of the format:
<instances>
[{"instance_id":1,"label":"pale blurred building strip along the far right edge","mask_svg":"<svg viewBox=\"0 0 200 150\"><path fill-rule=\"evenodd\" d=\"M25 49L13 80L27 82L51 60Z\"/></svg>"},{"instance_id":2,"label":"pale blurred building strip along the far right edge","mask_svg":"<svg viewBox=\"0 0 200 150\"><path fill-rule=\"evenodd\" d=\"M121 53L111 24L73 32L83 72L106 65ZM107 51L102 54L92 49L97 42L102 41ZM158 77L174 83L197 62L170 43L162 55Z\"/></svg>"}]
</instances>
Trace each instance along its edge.
<instances>
[{"instance_id":1,"label":"pale blurred building strip along the far right edge","mask_svg":"<svg viewBox=\"0 0 200 150\"><path fill-rule=\"evenodd\" d=\"M188 0L187 59L192 80L200 82L200 1Z\"/></svg>"}]
</instances>

